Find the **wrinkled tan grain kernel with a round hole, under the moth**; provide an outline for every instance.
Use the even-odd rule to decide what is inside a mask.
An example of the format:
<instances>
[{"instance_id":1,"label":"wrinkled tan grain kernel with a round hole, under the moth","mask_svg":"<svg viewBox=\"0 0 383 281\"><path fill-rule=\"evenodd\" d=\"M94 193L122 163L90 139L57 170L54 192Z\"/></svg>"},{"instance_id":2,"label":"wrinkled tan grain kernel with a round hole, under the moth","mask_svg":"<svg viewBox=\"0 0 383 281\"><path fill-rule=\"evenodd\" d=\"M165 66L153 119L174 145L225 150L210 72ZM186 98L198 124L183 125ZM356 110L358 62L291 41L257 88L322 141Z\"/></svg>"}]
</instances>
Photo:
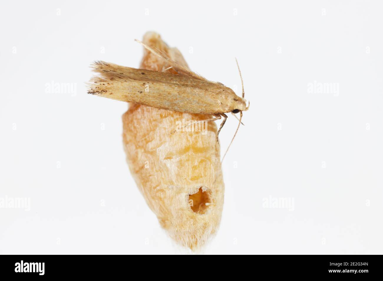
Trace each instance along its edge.
<instances>
[{"instance_id":1,"label":"wrinkled tan grain kernel with a round hole, under the moth","mask_svg":"<svg viewBox=\"0 0 383 281\"><path fill-rule=\"evenodd\" d=\"M142 41L146 45L139 67L144 70L142 72L151 70L187 78L198 76L189 70L178 49L169 47L159 34L147 32ZM173 68L174 62L182 71ZM107 84L116 77L110 73L100 78L97 81L104 80ZM149 85L146 83L140 88L142 94L150 93ZM223 211L224 183L218 132L214 122L206 122L205 133L172 132L177 122L204 122L213 117L213 114L177 112L142 103L129 103L122 117L123 147L137 187L169 236L193 251L201 249L217 232Z\"/></svg>"}]
</instances>

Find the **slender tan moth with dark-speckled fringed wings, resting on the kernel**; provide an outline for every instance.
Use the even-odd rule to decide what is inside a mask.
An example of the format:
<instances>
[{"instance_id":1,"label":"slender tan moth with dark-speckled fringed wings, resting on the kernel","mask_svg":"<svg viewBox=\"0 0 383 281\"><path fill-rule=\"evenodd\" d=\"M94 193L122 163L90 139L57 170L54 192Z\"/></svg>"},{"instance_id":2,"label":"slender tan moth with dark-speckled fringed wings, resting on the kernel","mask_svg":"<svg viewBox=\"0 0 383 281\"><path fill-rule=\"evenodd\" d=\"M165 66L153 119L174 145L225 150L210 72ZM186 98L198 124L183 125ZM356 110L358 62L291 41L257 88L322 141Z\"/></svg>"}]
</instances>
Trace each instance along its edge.
<instances>
[{"instance_id":1,"label":"slender tan moth with dark-speckled fringed wings, resting on the kernel","mask_svg":"<svg viewBox=\"0 0 383 281\"><path fill-rule=\"evenodd\" d=\"M205 122L219 120L223 117L224 119L217 132L217 141L219 132L228 118L225 113L236 114L239 112L237 133L241 125L242 111L248 110L250 106L250 103L246 106L246 100L244 99L245 93L238 62L237 66L242 83L242 97L237 96L232 89L222 83L206 80L181 63L172 60L161 50L149 47L137 39L136 41L152 54L164 59L170 65L169 68L173 68L177 73L183 75L123 67L114 63L97 61L93 63L92 68L93 71L98 73L98 76L90 80L88 94L159 109L214 115L214 118L203 120Z\"/></svg>"}]
</instances>

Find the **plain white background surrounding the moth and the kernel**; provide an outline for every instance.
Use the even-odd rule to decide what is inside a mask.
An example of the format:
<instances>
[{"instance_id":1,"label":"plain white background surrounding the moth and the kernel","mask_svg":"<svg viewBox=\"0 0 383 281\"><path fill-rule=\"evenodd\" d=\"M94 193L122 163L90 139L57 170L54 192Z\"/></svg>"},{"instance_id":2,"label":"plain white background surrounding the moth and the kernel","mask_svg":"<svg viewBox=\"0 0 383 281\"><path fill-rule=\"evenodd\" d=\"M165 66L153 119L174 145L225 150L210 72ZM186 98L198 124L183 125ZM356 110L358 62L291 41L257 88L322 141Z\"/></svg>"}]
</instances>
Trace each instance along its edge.
<instances>
[{"instance_id":1,"label":"plain white background surrounding the moth and the kernel","mask_svg":"<svg viewBox=\"0 0 383 281\"><path fill-rule=\"evenodd\" d=\"M31 209L0 208L0 253L188 253L129 172L127 104L88 95L84 84L93 60L138 67L133 40L154 30L192 70L240 94L237 57L251 102L223 162L221 226L202 253L382 254L382 8L2 2L0 197L28 197ZM77 88L46 93L51 81ZM310 93L314 81L339 92ZM226 124L223 148L237 121ZM292 198L293 210L264 208L270 196Z\"/></svg>"}]
</instances>

